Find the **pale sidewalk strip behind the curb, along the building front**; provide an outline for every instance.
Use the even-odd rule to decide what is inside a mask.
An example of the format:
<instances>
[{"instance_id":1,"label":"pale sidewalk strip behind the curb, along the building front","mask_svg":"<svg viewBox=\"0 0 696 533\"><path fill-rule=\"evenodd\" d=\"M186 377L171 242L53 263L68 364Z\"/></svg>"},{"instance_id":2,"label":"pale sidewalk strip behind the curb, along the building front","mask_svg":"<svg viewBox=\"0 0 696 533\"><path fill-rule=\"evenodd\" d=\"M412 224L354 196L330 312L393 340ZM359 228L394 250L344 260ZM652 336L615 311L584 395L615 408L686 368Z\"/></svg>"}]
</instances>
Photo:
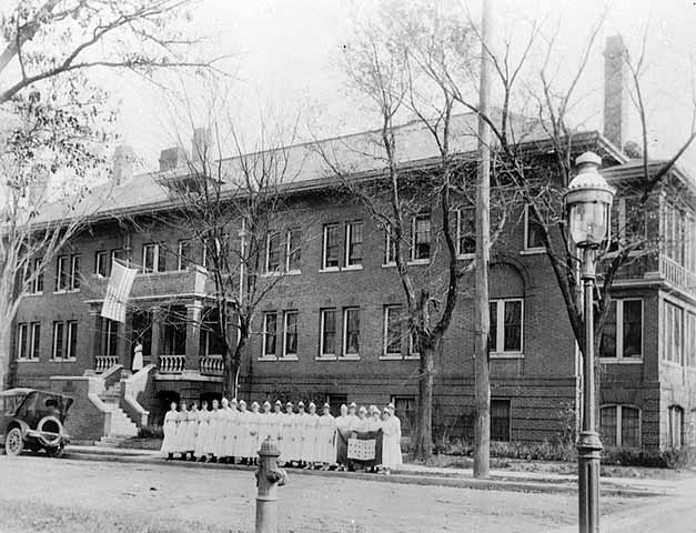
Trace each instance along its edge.
<instances>
[{"instance_id":1,"label":"pale sidewalk strip behind the curb, along the building front","mask_svg":"<svg viewBox=\"0 0 696 533\"><path fill-rule=\"evenodd\" d=\"M250 471L249 466L216 463L199 463L192 461L164 460L160 452L153 450L128 450L102 446L70 445L65 449L65 459L82 461L108 461L124 463L159 464L192 469L228 469ZM319 470L290 469L290 475L316 475L326 477L355 479L375 482L452 486L461 489L541 492L541 493L575 493L577 477L535 472L511 472L492 470L485 480L475 479L471 470L430 467L420 464L404 464L391 474L370 474L365 472L323 472ZM643 480L629 477L603 477L602 494L614 496L656 496L670 494L674 484L665 480Z\"/></svg>"}]
</instances>

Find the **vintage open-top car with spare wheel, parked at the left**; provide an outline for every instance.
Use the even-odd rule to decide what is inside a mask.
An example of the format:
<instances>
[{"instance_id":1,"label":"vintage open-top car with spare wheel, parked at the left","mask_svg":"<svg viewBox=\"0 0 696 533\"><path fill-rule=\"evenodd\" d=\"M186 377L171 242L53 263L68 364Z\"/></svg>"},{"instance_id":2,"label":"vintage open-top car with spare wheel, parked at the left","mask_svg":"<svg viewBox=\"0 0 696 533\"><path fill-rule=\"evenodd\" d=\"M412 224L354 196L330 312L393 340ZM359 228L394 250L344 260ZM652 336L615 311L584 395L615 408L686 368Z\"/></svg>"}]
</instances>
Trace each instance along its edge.
<instances>
[{"instance_id":1,"label":"vintage open-top car with spare wheel, parked at the left","mask_svg":"<svg viewBox=\"0 0 696 533\"><path fill-rule=\"evenodd\" d=\"M0 392L0 441L8 455L22 450L46 450L49 455L63 454L69 436L63 423L72 399L34 389L10 389Z\"/></svg>"}]
</instances>

